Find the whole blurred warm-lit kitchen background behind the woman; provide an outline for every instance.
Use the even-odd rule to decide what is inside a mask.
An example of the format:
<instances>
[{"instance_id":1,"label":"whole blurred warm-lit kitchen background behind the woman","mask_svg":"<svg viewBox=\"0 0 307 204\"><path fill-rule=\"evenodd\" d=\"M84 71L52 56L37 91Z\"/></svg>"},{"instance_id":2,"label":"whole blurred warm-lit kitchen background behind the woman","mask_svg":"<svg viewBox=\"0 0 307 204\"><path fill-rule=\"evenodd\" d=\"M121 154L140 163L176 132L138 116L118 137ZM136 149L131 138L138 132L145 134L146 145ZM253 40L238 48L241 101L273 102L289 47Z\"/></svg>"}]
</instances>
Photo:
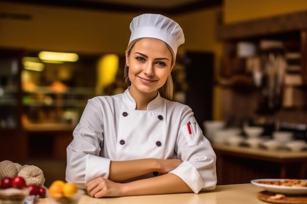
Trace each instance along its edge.
<instances>
[{"instance_id":1,"label":"whole blurred warm-lit kitchen background behind the woman","mask_svg":"<svg viewBox=\"0 0 307 204\"><path fill-rule=\"evenodd\" d=\"M129 23L160 13L185 44L174 100L217 154L218 184L307 178L306 0L0 0L0 161L65 180L89 98L125 91Z\"/></svg>"}]
</instances>

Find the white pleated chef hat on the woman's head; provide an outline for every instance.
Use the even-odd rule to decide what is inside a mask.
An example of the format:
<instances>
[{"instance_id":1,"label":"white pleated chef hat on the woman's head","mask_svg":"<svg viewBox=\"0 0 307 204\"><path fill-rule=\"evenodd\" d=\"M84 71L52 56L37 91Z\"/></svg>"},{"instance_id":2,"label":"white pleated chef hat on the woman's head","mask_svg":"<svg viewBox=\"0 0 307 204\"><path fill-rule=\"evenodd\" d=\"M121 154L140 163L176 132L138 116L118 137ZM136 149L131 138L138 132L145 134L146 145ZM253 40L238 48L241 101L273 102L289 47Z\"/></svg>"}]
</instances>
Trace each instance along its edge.
<instances>
[{"instance_id":1,"label":"white pleated chef hat on the woman's head","mask_svg":"<svg viewBox=\"0 0 307 204\"><path fill-rule=\"evenodd\" d=\"M156 38L173 49L175 56L179 45L184 43L184 35L178 23L160 14L142 14L130 23L131 41L138 38Z\"/></svg>"}]
</instances>

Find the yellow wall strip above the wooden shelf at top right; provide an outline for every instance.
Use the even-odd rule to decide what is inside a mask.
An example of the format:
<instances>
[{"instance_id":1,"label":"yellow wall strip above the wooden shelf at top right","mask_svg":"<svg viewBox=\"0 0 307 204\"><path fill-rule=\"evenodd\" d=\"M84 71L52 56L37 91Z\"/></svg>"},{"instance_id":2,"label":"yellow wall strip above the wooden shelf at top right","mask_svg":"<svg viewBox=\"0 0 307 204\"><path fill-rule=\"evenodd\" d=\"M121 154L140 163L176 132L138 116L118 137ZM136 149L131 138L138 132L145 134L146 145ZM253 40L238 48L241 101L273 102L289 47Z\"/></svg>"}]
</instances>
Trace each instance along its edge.
<instances>
[{"instance_id":1,"label":"yellow wall strip above the wooden shelf at top right","mask_svg":"<svg viewBox=\"0 0 307 204\"><path fill-rule=\"evenodd\" d=\"M238 23L307 10L307 0L224 0L224 22Z\"/></svg>"}]
</instances>

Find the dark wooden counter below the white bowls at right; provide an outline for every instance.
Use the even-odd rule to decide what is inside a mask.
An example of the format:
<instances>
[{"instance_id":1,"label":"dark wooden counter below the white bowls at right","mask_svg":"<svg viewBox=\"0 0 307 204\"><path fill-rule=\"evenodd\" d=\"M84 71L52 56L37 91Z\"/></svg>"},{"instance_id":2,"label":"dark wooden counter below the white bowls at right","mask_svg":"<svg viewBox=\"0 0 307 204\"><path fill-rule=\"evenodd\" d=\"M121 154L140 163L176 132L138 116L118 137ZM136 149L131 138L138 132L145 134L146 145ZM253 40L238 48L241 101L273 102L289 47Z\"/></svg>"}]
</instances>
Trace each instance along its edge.
<instances>
[{"instance_id":1,"label":"dark wooden counter below the white bowls at right","mask_svg":"<svg viewBox=\"0 0 307 204\"><path fill-rule=\"evenodd\" d=\"M307 152L270 152L227 145L213 145L213 149L219 185L307 177Z\"/></svg>"}]
</instances>

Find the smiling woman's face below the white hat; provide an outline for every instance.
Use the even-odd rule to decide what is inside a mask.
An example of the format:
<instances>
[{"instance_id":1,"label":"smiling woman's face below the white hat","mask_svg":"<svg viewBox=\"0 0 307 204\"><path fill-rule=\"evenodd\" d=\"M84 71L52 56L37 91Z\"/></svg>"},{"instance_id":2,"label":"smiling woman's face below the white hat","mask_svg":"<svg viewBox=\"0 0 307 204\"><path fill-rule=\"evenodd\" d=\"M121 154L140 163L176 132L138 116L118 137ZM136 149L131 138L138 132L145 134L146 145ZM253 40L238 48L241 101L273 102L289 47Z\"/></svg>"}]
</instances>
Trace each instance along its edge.
<instances>
[{"instance_id":1,"label":"smiling woman's face below the white hat","mask_svg":"<svg viewBox=\"0 0 307 204\"><path fill-rule=\"evenodd\" d=\"M130 91L156 93L172 71L172 54L163 41L154 38L138 40L126 54Z\"/></svg>"}]
</instances>

